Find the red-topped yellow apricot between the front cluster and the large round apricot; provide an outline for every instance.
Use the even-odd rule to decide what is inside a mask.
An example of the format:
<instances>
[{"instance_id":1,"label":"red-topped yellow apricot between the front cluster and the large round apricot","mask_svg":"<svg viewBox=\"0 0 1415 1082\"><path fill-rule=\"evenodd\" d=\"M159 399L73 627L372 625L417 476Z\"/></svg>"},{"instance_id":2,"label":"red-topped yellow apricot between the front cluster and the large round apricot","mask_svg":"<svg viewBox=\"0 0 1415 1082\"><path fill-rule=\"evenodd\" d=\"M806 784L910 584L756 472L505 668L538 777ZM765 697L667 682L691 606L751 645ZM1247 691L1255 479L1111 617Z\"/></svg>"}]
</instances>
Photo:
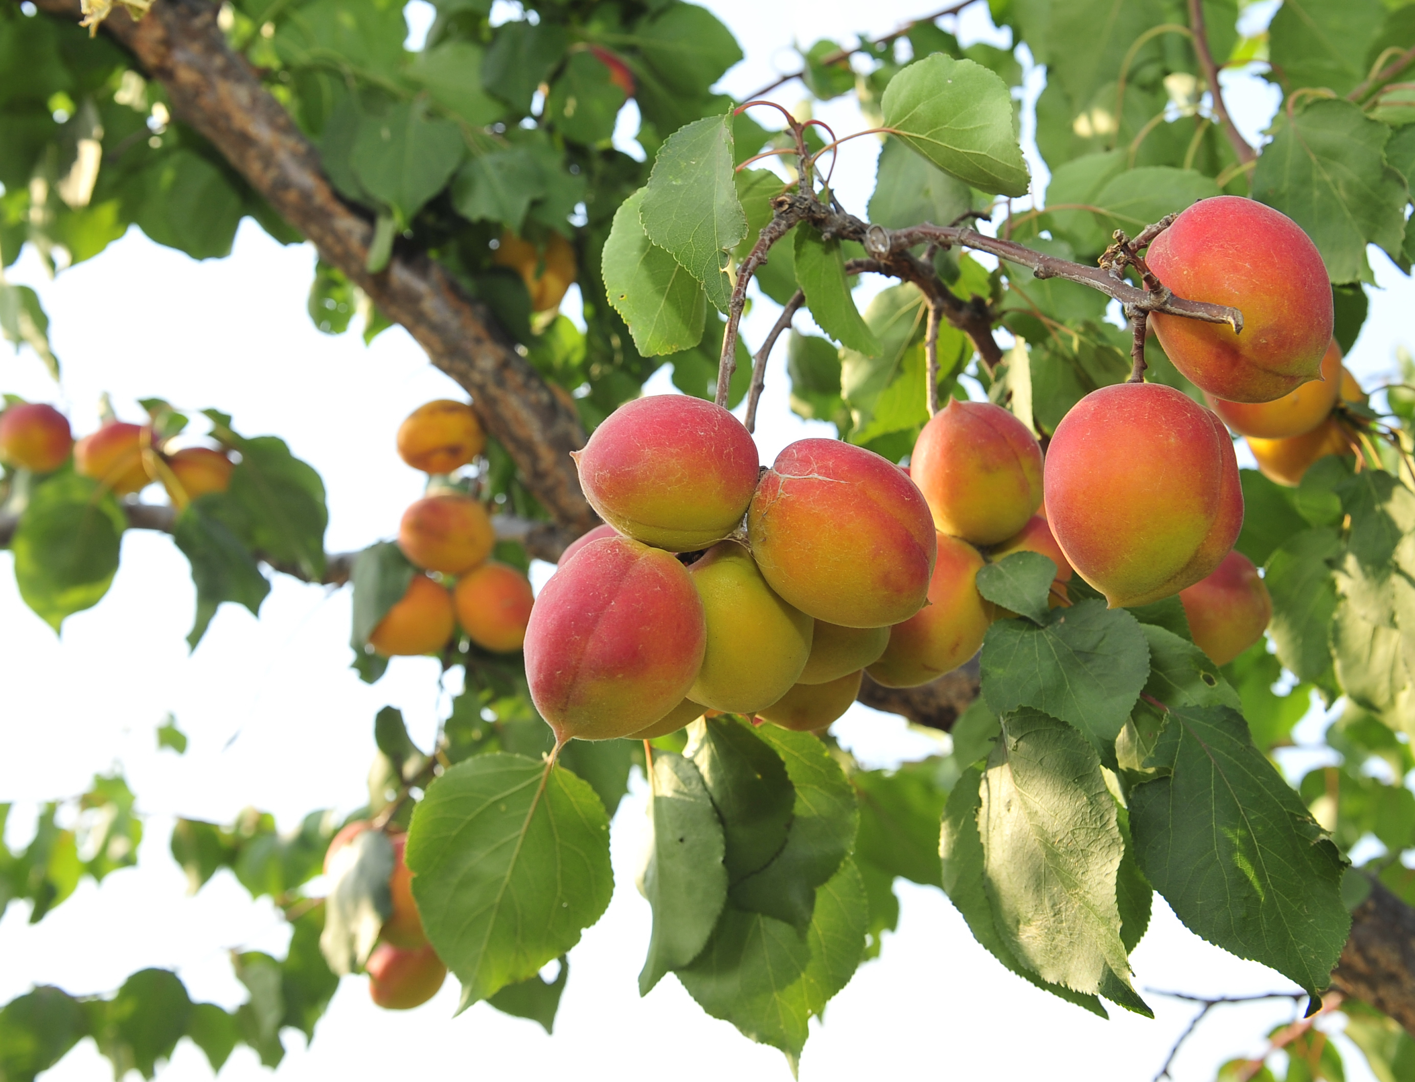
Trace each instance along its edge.
<instances>
[{"instance_id":1,"label":"red-topped yellow apricot between the front cluster and the large round apricot","mask_svg":"<svg viewBox=\"0 0 1415 1082\"><path fill-rule=\"evenodd\" d=\"M1006 541L1041 506L1041 446L990 402L949 398L918 433L908 466L934 525L975 545Z\"/></svg>"}]
</instances>

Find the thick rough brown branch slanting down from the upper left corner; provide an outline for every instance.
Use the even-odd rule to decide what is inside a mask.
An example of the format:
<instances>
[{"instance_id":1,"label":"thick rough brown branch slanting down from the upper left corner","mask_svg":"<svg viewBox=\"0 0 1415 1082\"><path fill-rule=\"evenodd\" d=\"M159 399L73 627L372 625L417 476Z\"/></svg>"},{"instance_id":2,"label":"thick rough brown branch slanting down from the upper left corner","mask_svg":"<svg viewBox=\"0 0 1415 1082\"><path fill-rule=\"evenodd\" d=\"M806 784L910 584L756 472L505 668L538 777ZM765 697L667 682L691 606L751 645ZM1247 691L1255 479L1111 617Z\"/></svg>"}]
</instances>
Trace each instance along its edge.
<instances>
[{"instance_id":1,"label":"thick rough brown branch slanting down from the upper left corner","mask_svg":"<svg viewBox=\"0 0 1415 1082\"><path fill-rule=\"evenodd\" d=\"M38 0L38 7L79 18L76 0ZM325 262L406 327L432 363L471 394L483 423L542 506L566 527L594 525L569 456L584 443L573 406L552 392L487 310L424 255L395 245L385 270L365 270L372 224L330 187L317 152L289 112L226 45L216 14L218 6L207 0L163 0L139 23L115 11L103 30L163 84L181 120L209 139Z\"/></svg>"}]
</instances>

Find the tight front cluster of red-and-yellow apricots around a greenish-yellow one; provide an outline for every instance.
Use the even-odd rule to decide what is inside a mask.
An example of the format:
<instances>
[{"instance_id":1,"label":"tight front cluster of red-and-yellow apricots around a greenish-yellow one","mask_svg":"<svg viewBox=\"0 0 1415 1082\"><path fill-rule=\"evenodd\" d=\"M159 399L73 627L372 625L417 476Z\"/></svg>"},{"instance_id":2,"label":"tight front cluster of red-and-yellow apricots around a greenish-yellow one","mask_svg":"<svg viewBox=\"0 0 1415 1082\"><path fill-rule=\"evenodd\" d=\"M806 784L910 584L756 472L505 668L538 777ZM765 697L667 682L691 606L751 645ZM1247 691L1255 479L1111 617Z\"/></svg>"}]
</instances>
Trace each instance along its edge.
<instances>
[{"instance_id":1,"label":"tight front cluster of red-and-yellow apricots around a greenish-yellow one","mask_svg":"<svg viewBox=\"0 0 1415 1082\"><path fill-rule=\"evenodd\" d=\"M566 549L525 640L559 742L712 711L822 729L928 598L928 506L873 452L804 439L761 469L726 409L662 395L620 406L576 463L606 525Z\"/></svg>"}]
</instances>

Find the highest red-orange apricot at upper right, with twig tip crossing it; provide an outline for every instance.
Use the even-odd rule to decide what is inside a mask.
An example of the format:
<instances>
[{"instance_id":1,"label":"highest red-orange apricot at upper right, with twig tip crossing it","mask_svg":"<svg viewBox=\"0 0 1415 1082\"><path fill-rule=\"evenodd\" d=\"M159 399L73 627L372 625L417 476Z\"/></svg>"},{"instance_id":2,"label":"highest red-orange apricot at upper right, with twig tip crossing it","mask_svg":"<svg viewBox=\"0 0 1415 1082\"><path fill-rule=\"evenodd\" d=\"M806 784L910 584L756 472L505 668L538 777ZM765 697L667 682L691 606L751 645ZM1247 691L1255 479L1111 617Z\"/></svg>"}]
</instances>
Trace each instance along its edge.
<instances>
[{"instance_id":1,"label":"highest red-orange apricot at upper right, with twig tip crossing it","mask_svg":"<svg viewBox=\"0 0 1415 1082\"><path fill-rule=\"evenodd\" d=\"M1316 380L1332 343L1332 280L1312 238L1285 214L1240 195L1200 200L1145 256L1186 300L1242 312L1224 323L1150 314L1165 353L1200 391L1271 402Z\"/></svg>"}]
</instances>

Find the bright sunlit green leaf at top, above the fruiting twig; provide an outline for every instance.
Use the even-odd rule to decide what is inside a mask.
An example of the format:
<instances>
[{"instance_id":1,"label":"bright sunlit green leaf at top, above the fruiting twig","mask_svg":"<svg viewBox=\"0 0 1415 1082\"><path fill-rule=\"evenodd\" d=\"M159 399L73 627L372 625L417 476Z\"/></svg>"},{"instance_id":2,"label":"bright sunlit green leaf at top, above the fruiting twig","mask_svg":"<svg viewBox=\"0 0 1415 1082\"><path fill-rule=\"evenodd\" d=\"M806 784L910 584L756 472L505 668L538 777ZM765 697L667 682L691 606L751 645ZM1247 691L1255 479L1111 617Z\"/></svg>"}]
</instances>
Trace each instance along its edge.
<instances>
[{"instance_id":1,"label":"bright sunlit green leaf at top, above the fruiting twig","mask_svg":"<svg viewBox=\"0 0 1415 1082\"><path fill-rule=\"evenodd\" d=\"M880 105L884 126L938 169L983 191L1027 194L1012 93L988 68L935 52L896 75Z\"/></svg>"}]
</instances>

